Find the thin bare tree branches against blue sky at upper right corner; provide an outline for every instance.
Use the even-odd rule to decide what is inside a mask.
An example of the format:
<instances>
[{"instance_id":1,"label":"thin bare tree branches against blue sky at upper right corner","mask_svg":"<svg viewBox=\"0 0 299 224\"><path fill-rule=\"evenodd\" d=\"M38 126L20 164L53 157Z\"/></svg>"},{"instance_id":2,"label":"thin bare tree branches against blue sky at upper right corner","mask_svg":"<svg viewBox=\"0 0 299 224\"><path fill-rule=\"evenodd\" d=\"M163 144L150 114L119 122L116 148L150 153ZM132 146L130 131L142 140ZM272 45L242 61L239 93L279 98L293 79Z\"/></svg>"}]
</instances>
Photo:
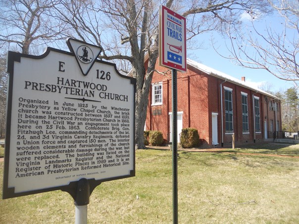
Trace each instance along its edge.
<instances>
[{"instance_id":1,"label":"thin bare tree branches against blue sky at upper right corner","mask_svg":"<svg viewBox=\"0 0 299 224\"><path fill-rule=\"evenodd\" d=\"M228 29L228 50L239 65L264 69L282 80L299 81L299 0L268 0L281 23L267 24L266 30L256 27L251 12L251 29L247 33ZM232 28L232 26L231 26ZM221 55L223 53L220 52Z\"/></svg>"}]
</instances>

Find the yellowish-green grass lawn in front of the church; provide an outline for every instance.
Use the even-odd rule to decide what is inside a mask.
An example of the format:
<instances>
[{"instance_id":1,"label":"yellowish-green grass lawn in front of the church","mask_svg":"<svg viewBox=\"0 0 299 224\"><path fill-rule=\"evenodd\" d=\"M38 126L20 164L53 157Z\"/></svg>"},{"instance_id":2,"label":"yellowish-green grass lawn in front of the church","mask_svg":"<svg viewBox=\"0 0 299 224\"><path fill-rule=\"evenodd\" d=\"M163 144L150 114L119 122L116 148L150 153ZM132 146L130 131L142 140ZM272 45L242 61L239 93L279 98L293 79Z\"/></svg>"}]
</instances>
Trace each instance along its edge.
<instances>
[{"instance_id":1,"label":"yellowish-green grass lawn in front of the church","mask_svg":"<svg viewBox=\"0 0 299 224\"><path fill-rule=\"evenodd\" d=\"M227 151L179 151L179 223L298 224L299 145ZM75 219L73 200L62 191L0 199L0 211L1 224L69 224ZM171 151L136 151L136 177L101 183L90 198L88 223L171 224Z\"/></svg>"}]
</instances>

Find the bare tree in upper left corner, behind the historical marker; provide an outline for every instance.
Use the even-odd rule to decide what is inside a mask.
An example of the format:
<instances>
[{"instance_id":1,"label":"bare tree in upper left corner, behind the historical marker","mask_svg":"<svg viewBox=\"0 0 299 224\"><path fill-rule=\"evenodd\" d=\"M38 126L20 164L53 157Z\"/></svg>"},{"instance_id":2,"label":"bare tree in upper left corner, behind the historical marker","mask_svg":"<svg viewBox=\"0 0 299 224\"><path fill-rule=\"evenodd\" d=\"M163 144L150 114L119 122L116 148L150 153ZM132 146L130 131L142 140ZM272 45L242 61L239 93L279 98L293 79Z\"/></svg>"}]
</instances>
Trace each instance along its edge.
<instances>
[{"instance_id":1,"label":"bare tree in upper left corner, behind the historical marker","mask_svg":"<svg viewBox=\"0 0 299 224\"><path fill-rule=\"evenodd\" d=\"M12 45L10 48L25 54L39 54L35 52L39 45L59 39L64 27L51 17L57 2L0 0L0 45Z\"/></svg>"}]
</instances>

